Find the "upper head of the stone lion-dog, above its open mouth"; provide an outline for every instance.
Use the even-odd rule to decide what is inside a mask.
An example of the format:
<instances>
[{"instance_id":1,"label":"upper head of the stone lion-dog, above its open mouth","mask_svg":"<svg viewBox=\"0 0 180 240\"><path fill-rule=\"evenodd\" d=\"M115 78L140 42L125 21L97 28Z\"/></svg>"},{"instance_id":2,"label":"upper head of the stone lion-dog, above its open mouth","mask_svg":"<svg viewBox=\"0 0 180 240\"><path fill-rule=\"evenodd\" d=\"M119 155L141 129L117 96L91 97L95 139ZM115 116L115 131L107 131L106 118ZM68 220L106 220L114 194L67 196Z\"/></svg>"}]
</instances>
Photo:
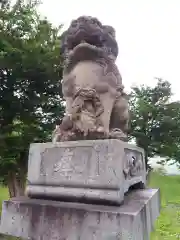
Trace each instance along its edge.
<instances>
[{"instance_id":1,"label":"upper head of the stone lion-dog, above its open mouth","mask_svg":"<svg viewBox=\"0 0 180 240\"><path fill-rule=\"evenodd\" d=\"M61 53L66 56L78 44L86 42L103 49L116 59L118 45L115 29L102 23L95 17L81 16L73 20L69 28L62 34Z\"/></svg>"}]
</instances>

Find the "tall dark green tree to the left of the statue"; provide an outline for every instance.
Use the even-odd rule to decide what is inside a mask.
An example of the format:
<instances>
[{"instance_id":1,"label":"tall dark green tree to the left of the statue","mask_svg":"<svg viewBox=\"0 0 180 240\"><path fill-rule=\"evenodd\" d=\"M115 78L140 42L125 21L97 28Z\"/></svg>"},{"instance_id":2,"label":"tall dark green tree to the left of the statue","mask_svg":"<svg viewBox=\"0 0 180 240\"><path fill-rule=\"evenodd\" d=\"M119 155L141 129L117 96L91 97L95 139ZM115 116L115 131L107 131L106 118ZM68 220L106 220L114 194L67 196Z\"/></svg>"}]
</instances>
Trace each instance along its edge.
<instances>
[{"instance_id":1,"label":"tall dark green tree to the left of the statue","mask_svg":"<svg viewBox=\"0 0 180 240\"><path fill-rule=\"evenodd\" d=\"M22 195L31 142L50 140L63 115L60 29L37 13L37 1L0 3L0 176Z\"/></svg>"}]
</instances>

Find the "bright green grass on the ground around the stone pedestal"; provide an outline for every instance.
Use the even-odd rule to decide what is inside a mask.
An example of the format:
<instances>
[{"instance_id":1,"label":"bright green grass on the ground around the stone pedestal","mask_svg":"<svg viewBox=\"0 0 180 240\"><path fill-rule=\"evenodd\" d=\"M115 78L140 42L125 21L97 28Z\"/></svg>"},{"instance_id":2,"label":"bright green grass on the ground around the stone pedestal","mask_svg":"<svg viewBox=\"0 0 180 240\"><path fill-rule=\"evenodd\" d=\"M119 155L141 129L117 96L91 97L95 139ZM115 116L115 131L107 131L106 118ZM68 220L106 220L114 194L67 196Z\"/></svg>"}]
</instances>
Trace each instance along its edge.
<instances>
[{"instance_id":1,"label":"bright green grass on the ground around the stone pedestal","mask_svg":"<svg viewBox=\"0 0 180 240\"><path fill-rule=\"evenodd\" d=\"M163 176L152 173L150 186L161 189L161 215L158 218L151 240L180 239L180 176ZM5 188L0 188L1 202L8 198ZM1 238L0 238L1 239ZM8 238L8 240L14 238Z\"/></svg>"}]
</instances>

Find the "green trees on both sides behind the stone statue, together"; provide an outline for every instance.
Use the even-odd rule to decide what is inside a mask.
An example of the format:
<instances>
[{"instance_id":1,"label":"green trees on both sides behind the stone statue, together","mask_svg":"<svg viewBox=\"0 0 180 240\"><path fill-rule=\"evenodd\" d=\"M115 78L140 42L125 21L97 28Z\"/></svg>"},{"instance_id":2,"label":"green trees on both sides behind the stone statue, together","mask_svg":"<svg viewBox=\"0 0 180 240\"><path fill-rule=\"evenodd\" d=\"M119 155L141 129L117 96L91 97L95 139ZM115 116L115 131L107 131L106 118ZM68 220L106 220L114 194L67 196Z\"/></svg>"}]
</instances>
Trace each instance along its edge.
<instances>
[{"instance_id":1,"label":"green trees on both sides behind the stone statue, together","mask_svg":"<svg viewBox=\"0 0 180 240\"><path fill-rule=\"evenodd\" d=\"M37 12L37 1L0 2L0 181L10 196L24 193L29 144L51 141L64 114L61 29ZM171 85L133 87L129 137L149 157L180 158L180 102Z\"/></svg>"}]
</instances>

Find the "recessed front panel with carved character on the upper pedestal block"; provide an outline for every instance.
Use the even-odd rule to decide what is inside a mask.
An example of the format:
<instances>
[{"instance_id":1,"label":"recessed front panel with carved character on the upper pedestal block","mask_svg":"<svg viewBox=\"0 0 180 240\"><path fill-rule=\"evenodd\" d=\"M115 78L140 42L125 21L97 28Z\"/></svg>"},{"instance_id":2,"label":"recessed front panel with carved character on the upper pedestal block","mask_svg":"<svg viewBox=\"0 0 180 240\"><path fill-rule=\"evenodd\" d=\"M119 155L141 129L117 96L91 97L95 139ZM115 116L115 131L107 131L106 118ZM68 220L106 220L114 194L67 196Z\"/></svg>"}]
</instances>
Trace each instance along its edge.
<instances>
[{"instance_id":1,"label":"recessed front panel with carved character on the upper pedestal block","mask_svg":"<svg viewBox=\"0 0 180 240\"><path fill-rule=\"evenodd\" d=\"M55 184L67 180L73 184L114 181L118 170L114 167L113 154L103 145L98 148L47 148L41 153L41 181Z\"/></svg>"}]
</instances>

